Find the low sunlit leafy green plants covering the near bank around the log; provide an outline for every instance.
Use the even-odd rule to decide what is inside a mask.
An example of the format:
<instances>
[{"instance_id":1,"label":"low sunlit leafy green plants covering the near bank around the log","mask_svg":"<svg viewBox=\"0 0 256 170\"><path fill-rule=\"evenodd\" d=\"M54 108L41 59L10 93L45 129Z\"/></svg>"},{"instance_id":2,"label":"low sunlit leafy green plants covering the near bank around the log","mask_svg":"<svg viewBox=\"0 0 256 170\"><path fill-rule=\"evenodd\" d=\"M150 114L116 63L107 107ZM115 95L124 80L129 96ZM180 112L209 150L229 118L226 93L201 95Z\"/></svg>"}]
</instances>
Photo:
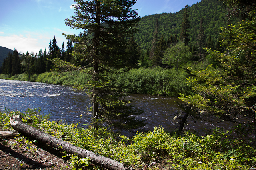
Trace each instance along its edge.
<instances>
[{"instance_id":1,"label":"low sunlit leafy green plants covering the near bank around the log","mask_svg":"<svg viewBox=\"0 0 256 170\"><path fill-rule=\"evenodd\" d=\"M154 131L137 133L136 136L127 138L105 128L93 129L89 126L84 129L77 128L74 124L51 122L48 121L47 116L40 115L35 110L26 113L15 111L0 113L2 128L12 129L9 123L12 114L22 114L23 121L37 129L136 169L249 170L256 168L256 149L250 146L246 139L234 137L234 132L230 131L223 132L216 129L209 135L197 136L189 132L179 135L175 131L167 132L162 128L155 128ZM1 147L4 143L6 144L4 147L9 148L29 147L32 143L38 143L26 137L18 137L14 140L16 141L2 140ZM34 149L35 156L37 156L36 150ZM26 152L22 149L20 151ZM43 153L42 150L38 152ZM88 168L85 166L87 162L75 155L58 150L56 152L69 159L66 164L70 167ZM94 166L92 169L101 168Z\"/></svg>"}]
</instances>

